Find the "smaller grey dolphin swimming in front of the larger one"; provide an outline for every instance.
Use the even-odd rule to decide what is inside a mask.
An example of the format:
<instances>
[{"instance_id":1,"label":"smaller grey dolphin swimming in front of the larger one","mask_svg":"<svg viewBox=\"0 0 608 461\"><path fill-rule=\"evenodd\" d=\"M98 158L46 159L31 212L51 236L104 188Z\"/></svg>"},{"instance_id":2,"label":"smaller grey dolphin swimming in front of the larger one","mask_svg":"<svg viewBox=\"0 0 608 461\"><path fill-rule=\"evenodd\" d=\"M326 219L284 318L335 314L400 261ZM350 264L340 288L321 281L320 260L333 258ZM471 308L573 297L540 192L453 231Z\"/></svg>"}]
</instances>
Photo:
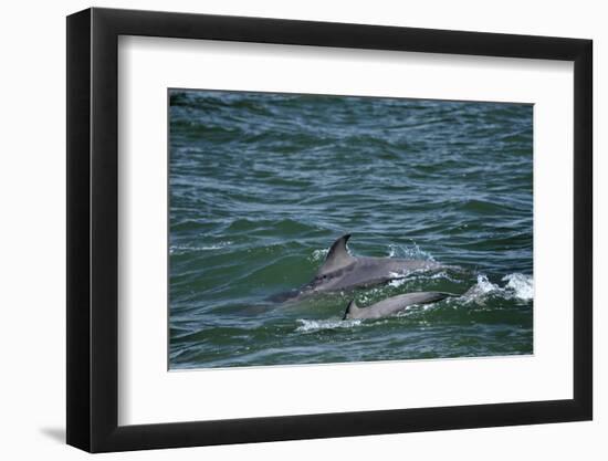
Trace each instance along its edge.
<instances>
[{"instance_id":1,"label":"smaller grey dolphin swimming in front of the larger one","mask_svg":"<svg viewBox=\"0 0 608 461\"><path fill-rule=\"evenodd\" d=\"M413 304L436 303L449 296L458 295L441 292L406 293L398 296L387 297L386 300L382 300L376 304L370 305L369 307L364 308L357 306L355 300L353 300L346 306L346 312L344 313L344 317L342 319L346 321L349 318L388 317L389 315L397 314L398 312L403 311L406 307Z\"/></svg>"}]
</instances>

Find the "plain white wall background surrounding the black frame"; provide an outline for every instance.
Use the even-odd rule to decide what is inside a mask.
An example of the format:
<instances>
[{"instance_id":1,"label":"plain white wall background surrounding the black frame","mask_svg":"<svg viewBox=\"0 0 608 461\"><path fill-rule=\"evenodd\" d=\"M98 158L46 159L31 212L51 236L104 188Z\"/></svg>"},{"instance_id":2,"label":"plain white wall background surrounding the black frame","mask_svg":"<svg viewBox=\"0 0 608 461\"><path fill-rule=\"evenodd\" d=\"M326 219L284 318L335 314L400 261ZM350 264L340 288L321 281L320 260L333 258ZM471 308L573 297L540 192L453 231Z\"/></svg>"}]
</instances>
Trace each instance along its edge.
<instances>
[{"instance_id":1,"label":"plain white wall background surrounding the black frame","mask_svg":"<svg viewBox=\"0 0 608 461\"><path fill-rule=\"evenodd\" d=\"M486 32L563 35L595 41L595 233L598 289L608 276L606 207L608 163L600 133L607 92L608 29L602 2L307 0L137 0L95 6L199 13L263 15ZM0 98L0 453L3 459L83 459L64 446L65 433L65 19L90 7L9 2L2 9ZM606 459L608 327L606 291L595 296L595 421L253 446L109 454L109 459L354 460ZM604 436L604 437L601 437Z\"/></svg>"}]
</instances>

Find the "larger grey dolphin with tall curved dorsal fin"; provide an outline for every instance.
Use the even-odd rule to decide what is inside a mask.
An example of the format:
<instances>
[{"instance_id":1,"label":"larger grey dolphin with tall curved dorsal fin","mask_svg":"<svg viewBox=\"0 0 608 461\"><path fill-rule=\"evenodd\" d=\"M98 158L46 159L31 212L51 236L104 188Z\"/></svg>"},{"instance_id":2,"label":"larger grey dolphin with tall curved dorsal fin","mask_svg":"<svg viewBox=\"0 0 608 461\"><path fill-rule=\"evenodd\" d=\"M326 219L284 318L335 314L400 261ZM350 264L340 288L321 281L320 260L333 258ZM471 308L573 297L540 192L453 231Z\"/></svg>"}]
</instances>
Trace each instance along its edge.
<instances>
[{"instance_id":1,"label":"larger grey dolphin with tall curved dorsal fin","mask_svg":"<svg viewBox=\"0 0 608 461\"><path fill-rule=\"evenodd\" d=\"M428 260L353 256L346 248L349 238L350 234L343 235L332 244L325 262L311 282L300 290L274 295L271 300L287 301L315 293L349 291L403 279L417 271L448 268Z\"/></svg>"}]
</instances>

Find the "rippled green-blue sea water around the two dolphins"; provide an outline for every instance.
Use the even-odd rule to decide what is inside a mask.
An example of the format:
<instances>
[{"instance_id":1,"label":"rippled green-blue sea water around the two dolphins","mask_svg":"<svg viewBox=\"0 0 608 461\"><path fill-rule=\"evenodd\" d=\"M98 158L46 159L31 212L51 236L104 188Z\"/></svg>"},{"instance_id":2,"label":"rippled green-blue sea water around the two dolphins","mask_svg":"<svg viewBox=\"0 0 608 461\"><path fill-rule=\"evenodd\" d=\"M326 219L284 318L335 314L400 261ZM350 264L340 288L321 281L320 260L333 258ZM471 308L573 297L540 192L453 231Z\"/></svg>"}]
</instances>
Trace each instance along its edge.
<instances>
[{"instance_id":1,"label":"rippled green-blue sea water around the two dolphins","mask_svg":"<svg viewBox=\"0 0 608 461\"><path fill-rule=\"evenodd\" d=\"M533 353L533 107L169 91L169 368ZM354 255L434 260L355 292L269 301ZM460 296L343 321L411 291Z\"/></svg>"}]
</instances>

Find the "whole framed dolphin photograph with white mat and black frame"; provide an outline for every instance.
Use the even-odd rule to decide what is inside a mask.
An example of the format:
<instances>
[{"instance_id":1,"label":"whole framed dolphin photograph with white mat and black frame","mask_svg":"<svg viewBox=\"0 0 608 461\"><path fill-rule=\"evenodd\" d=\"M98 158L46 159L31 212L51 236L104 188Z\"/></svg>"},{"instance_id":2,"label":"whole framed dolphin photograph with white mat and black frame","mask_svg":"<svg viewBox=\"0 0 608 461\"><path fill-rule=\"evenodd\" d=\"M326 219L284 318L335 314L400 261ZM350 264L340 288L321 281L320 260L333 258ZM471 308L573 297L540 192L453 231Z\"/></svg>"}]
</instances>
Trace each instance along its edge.
<instances>
[{"instance_id":1,"label":"whole framed dolphin photograph with white mat and black frame","mask_svg":"<svg viewBox=\"0 0 608 461\"><path fill-rule=\"evenodd\" d=\"M67 18L67 443L589 420L591 41Z\"/></svg>"}]
</instances>

